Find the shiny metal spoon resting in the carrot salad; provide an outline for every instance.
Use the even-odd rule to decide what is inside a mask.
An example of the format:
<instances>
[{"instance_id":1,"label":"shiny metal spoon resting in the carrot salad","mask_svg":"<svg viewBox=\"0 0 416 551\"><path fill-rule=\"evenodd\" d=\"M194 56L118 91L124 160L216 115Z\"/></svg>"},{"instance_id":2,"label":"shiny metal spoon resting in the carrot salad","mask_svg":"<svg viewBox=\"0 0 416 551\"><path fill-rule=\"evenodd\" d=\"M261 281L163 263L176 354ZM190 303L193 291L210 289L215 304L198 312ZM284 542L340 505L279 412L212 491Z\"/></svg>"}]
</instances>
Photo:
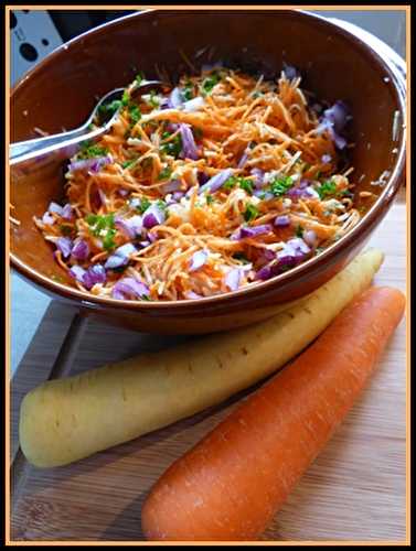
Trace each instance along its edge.
<instances>
[{"instance_id":1,"label":"shiny metal spoon resting in the carrot salad","mask_svg":"<svg viewBox=\"0 0 416 551\"><path fill-rule=\"evenodd\" d=\"M131 90L131 98L137 99L146 91L160 88L164 86L160 80L141 80L141 83ZM9 147L9 163L10 166L33 161L36 158L44 158L45 155L54 154L70 158L75 154L79 142L86 140L94 140L106 133L114 122L116 121L121 106L111 114L103 109L111 101L119 100L122 97L125 88L116 88L106 94L95 106L89 118L83 126L75 130L61 132L58 134L46 136L45 138L35 138L33 140L25 140L11 143ZM109 115L108 115L109 114ZM94 122L94 129L90 125Z\"/></svg>"}]
</instances>

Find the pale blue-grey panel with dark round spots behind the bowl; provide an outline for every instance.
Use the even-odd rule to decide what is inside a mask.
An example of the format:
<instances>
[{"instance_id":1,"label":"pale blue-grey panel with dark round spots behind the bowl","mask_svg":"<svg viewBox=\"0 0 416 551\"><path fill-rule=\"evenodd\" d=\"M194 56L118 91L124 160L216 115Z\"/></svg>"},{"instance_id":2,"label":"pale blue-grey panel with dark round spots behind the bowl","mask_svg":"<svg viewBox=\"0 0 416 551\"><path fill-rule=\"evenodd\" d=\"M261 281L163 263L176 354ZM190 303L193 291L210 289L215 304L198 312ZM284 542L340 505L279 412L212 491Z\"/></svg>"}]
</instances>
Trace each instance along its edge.
<instances>
[{"instance_id":1,"label":"pale blue-grey panel with dark round spots behind the bowl","mask_svg":"<svg viewBox=\"0 0 416 551\"><path fill-rule=\"evenodd\" d=\"M49 13L44 10L13 10L10 12L11 60L13 86L63 41Z\"/></svg>"}]
</instances>

